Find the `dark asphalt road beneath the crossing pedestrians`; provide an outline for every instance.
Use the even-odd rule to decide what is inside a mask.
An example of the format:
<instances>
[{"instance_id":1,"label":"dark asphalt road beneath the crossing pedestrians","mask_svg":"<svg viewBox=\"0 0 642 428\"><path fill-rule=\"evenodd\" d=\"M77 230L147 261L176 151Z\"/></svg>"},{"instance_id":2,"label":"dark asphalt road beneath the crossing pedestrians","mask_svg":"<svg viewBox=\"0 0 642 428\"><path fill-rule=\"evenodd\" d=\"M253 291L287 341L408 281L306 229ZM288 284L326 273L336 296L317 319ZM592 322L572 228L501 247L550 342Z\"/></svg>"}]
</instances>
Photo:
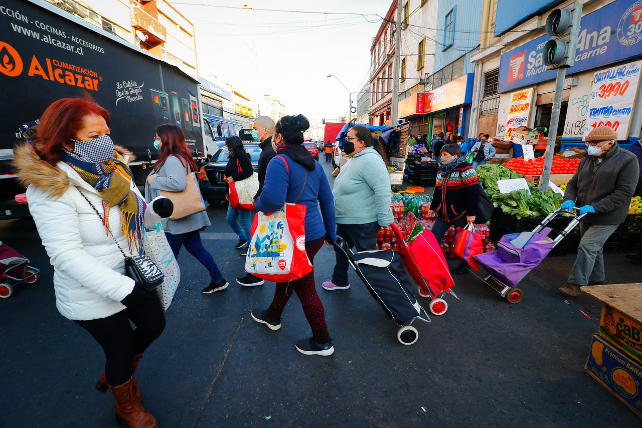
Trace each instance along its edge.
<instances>
[{"instance_id":1,"label":"dark asphalt road beneath the crossing pedestrians","mask_svg":"<svg viewBox=\"0 0 642 428\"><path fill-rule=\"evenodd\" d=\"M322 165L329 175L329 164ZM209 207L213 226L204 242L233 282L244 259L234 250L225 209ZM53 269L35 226L0 222L0 241L42 270L37 283L0 299L0 427L116 426L114 398L93 389L103 370L101 348L56 310ZM315 278L336 348L330 357L295 350L295 341L310 335L295 296L273 332L249 314L269 305L271 283L232 283L203 295L205 269L187 253L178 261L182 282L167 327L136 373L143 404L160 427L641 425L584 371L598 309L589 311L592 319L579 314L586 306L560 295L553 285L561 284L548 275L573 257L546 259L544 274L521 282L525 296L516 305L471 274L456 277L460 300L447 296L446 314L417 321L419 341L403 346L354 272L349 290L322 289L334 266L333 250L324 246ZM618 279L639 282L639 266L623 266L629 268Z\"/></svg>"}]
</instances>

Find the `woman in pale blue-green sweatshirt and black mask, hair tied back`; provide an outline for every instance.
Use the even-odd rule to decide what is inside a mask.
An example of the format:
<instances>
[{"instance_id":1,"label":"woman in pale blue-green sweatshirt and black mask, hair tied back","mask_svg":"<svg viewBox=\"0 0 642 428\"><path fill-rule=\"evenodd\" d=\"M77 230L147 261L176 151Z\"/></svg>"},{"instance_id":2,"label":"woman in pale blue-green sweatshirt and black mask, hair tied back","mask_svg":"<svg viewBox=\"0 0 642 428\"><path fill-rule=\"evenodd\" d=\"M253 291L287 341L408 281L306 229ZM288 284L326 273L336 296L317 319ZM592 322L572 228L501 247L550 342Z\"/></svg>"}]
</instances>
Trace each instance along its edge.
<instances>
[{"instance_id":1,"label":"woman in pale blue-green sweatshirt and black mask, hair tied back","mask_svg":"<svg viewBox=\"0 0 642 428\"><path fill-rule=\"evenodd\" d=\"M390 175L380 150L381 145L372 139L368 128L353 126L343 144L343 151L351 158L334 180L336 234L357 251L376 250L379 228L394 221ZM329 291L350 288L348 261L341 252L335 252L335 256L332 279L323 283Z\"/></svg>"}]
</instances>

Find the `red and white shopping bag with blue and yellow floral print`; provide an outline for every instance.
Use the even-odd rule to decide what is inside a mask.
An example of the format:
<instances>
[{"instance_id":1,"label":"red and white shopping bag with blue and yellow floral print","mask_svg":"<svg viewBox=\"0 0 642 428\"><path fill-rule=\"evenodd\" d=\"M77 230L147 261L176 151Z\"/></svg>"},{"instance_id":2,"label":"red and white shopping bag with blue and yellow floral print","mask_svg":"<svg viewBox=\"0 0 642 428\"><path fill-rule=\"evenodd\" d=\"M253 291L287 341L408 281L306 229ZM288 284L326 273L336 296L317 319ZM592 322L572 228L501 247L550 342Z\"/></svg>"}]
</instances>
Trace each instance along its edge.
<instances>
[{"instance_id":1,"label":"red and white shopping bag with blue and yellow floral print","mask_svg":"<svg viewBox=\"0 0 642 428\"><path fill-rule=\"evenodd\" d=\"M273 282L302 278L312 270L306 253L306 206L285 203L270 214L257 212L245 259L247 273Z\"/></svg>"}]
</instances>

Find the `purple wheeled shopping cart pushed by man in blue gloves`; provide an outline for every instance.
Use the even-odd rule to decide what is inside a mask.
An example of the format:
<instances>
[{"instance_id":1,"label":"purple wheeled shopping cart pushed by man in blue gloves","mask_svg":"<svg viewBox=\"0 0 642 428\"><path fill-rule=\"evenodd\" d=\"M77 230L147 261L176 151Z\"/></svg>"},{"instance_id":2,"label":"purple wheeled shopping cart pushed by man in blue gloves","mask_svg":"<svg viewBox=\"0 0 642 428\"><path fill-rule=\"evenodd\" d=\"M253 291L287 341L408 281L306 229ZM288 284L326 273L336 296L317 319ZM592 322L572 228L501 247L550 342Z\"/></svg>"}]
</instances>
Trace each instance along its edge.
<instances>
[{"instance_id":1,"label":"purple wheeled shopping cart pushed by man in blue gloves","mask_svg":"<svg viewBox=\"0 0 642 428\"><path fill-rule=\"evenodd\" d=\"M573 207L574 210L579 209ZM517 283L539 265L584 216L584 214L578 216L573 211L558 209L551 212L532 232L503 235L497 243L497 251L474 255L474 259L480 262L489 274L483 278L483 281L509 303L519 303L523 294L521 289L517 288ZM573 219L564 230L557 230L559 234L552 239L548 235L553 229L546 225L562 213L571 214Z\"/></svg>"}]
</instances>

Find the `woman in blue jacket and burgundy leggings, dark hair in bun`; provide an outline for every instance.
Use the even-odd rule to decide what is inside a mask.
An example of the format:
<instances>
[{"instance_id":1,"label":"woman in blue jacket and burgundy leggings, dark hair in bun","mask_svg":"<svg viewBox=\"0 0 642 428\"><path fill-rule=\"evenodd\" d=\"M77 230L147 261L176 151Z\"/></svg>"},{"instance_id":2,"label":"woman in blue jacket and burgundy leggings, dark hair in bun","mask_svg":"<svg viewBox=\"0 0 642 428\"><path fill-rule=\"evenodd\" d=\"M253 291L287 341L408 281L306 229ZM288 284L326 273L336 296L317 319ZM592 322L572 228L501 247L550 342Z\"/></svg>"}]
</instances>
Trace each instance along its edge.
<instances>
[{"instance_id":1,"label":"woman in blue jacket and burgundy leggings, dark hair in bun","mask_svg":"<svg viewBox=\"0 0 642 428\"><path fill-rule=\"evenodd\" d=\"M309 126L308 119L302 114L283 116L274 126L272 143L278 145L283 141L285 146L268 164L256 209L274 212L286 202L305 205L306 253L314 264L315 254L324 241L336 241L336 225L332 191L325 172L302 144L303 132ZM291 296L291 291L288 293L290 287L297 293L312 329L311 338L297 341L297 350L305 355L331 355L334 347L325 324L324 307L317 294L314 269L297 280L277 282L272 304L265 310L252 309L252 318L270 330L280 329L281 313Z\"/></svg>"}]
</instances>

